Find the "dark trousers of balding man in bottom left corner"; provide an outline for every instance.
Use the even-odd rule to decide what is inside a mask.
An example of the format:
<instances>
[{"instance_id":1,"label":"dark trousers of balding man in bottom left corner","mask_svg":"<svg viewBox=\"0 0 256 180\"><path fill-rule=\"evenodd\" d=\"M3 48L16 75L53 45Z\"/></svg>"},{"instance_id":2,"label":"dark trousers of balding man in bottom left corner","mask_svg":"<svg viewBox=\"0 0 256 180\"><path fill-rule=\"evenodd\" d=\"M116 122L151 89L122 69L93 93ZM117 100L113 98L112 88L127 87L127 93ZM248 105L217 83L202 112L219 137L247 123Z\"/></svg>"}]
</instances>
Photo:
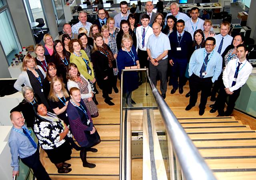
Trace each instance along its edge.
<instances>
[{"instance_id":1,"label":"dark trousers of balding man in bottom left corner","mask_svg":"<svg viewBox=\"0 0 256 180\"><path fill-rule=\"evenodd\" d=\"M44 166L42 165L40 158L39 158L39 150L28 156L26 158L20 158L21 161L26 164L29 168L31 168L38 180L50 180L48 173L46 172Z\"/></svg>"}]
</instances>

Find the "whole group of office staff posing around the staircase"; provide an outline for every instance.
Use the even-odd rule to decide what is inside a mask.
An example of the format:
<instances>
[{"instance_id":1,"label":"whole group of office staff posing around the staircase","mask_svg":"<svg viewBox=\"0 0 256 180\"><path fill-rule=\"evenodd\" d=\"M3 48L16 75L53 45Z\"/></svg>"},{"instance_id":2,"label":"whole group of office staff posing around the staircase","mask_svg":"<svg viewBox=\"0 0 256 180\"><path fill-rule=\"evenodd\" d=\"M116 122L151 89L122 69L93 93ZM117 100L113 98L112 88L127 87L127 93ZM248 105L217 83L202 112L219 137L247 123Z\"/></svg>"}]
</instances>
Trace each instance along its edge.
<instances>
[{"instance_id":1,"label":"whole group of office staff posing around the staircase","mask_svg":"<svg viewBox=\"0 0 256 180\"><path fill-rule=\"evenodd\" d=\"M72 170L71 164L66 163L71 148L80 150L84 167L94 168L95 164L87 162L86 152L97 152L92 147L100 142L92 122L99 115L96 83L105 103L114 105L109 95L112 90L118 93L117 79L122 69L149 68L154 85L160 79L164 99L168 81L171 94L176 90L182 94L189 80L186 111L195 106L201 91L199 115L204 114L211 92L211 99L216 101L210 113L231 115L240 89L252 71L242 34L231 37L230 24L222 22L220 34L215 35L211 21L198 18L197 7L191 9L189 18L179 12L176 2L170 5L171 13L166 18L152 11L151 1L146 2L146 12L140 14L138 24L135 14L128 12L126 1L120 2L120 10L114 18L106 18L104 8L99 8L93 24L87 22L87 13L80 11L79 22L72 27L64 24L64 34L58 40L45 34L45 45L35 46L36 57L24 57L23 71L14 84L22 91L24 100L12 109L10 116L14 125L9 140L14 175L18 174L19 154L38 179L49 179L28 128L33 129L59 173ZM136 71L124 73L123 94L128 105L135 103L132 91L144 82L142 74Z\"/></svg>"}]
</instances>

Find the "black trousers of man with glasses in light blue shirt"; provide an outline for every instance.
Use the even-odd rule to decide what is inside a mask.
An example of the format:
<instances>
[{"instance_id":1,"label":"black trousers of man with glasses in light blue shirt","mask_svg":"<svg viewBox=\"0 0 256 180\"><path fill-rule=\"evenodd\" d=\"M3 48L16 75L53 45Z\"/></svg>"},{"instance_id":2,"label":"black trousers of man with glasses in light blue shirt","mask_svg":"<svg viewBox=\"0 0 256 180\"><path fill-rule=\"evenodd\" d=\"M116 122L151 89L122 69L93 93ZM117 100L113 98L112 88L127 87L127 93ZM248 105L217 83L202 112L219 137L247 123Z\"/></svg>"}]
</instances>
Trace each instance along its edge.
<instances>
[{"instance_id":1,"label":"black trousers of man with glasses in light blue shirt","mask_svg":"<svg viewBox=\"0 0 256 180\"><path fill-rule=\"evenodd\" d=\"M194 73L189 78L190 99L189 104L196 105L198 91L201 89L199 109L205 109L208 95L212 88L212 77L200 78Z\"/></svg>"}]
</instances>

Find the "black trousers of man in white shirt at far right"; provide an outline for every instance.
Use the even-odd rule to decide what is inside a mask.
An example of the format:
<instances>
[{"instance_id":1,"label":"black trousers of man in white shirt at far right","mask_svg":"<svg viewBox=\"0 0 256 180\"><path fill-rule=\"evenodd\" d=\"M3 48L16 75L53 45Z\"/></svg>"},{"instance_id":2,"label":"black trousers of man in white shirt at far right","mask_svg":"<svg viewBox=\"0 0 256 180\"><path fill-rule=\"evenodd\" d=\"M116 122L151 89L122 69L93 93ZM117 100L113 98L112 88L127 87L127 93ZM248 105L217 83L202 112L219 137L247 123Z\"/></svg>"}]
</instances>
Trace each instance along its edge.
<instances>
[{"instance_id":1,"label":"black trousers of man in white shirt at far right","mask_svg":"<svg viewBox=\"0 0 256 180\"><path fill-rule=\"evenodd\" d=\"M233 94L228 95L225 91L225 86L222 81L222 84L220 87L220 92L216 99L216 103L214 103L214 106L218 109L219 115L221 115L221 116L224 116L224 115L230 116L231 115L231 113L233 112L234 107L236 105L236 100L238 99L238 97L240 95L240 91L241 91L241 88L233 91ZM228 97L228 103L227 103L228 106L227 106L226 112L224 112L227 97Z\"/></svg>"}]
</instances>

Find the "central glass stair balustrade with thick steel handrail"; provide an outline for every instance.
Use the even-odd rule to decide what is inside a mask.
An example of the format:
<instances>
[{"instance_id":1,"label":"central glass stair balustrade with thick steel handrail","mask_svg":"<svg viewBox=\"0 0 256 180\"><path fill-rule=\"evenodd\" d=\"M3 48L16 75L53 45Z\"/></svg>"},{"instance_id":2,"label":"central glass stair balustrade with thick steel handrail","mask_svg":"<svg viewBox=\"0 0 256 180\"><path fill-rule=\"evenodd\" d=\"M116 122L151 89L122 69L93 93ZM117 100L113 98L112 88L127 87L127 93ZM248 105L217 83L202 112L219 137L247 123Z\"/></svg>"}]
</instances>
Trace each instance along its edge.
<instances>
[{"instance_id":1,"label":"central glass stair balustrade with thick steel handrail","mask_svg":"<svg viewBox=\"0 0 256 180\"><path fill-rule=\"evenodd\" d=\"M120 180L215 180L147 69L122 71L121 95Z\"/></svg>"}]
</instances>

